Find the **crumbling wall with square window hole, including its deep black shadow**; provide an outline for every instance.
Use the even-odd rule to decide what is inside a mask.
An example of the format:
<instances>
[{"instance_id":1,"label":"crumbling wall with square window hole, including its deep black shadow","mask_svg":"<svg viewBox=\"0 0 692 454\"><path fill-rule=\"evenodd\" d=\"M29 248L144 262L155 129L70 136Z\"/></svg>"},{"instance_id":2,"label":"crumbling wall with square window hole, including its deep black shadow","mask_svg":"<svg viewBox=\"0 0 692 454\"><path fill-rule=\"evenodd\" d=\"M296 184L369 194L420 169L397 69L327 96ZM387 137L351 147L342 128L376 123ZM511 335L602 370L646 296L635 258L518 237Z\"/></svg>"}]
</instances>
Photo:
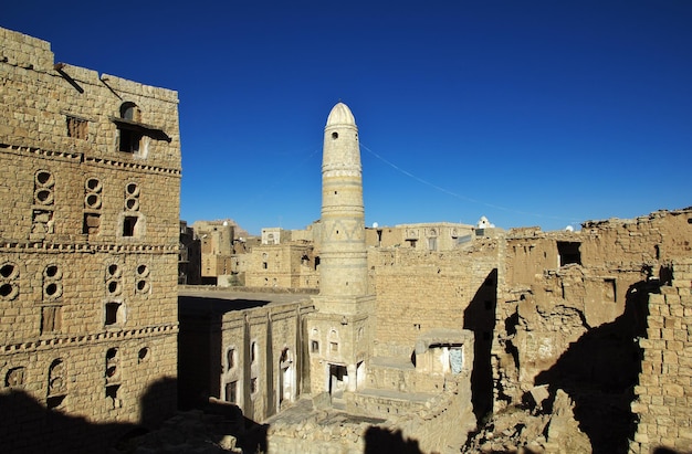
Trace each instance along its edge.
<instances>
[{"instance_id":1,"label":"crumbling wall with square window hole, including its deep black shadow","mask_svg":"<svg viewBox=\"0 0 692 454\"><path fill-rule=\"evenodd\" d=\"M594 452L626 448L640 368L632 339L646 334L646 297L670 279L667 263L691 255L691 220L684 209L580 232L511 231L492 350L495 412L535 386L563 389Z\"/></svg>"}]
</instances>

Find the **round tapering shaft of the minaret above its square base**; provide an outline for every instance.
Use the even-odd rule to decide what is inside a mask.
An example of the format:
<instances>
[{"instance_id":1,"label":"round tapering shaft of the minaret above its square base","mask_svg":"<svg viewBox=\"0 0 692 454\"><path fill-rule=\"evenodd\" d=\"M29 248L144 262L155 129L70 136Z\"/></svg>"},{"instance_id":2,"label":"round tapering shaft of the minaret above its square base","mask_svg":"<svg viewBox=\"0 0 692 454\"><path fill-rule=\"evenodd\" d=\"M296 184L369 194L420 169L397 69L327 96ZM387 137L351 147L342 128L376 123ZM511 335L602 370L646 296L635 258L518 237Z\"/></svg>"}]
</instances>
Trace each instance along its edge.
<instances>
[{"instance_id":1,"label":"round tapering shaft of the minaret above its square base","mask_svg":"<svg viewBox=\"0 0 692 454\"><path fill-rule=\"evenodd\" d=\"M365 211L358 128L343 103L324 129L319 295L367 294Z\"/></svg>"}]
</instances>

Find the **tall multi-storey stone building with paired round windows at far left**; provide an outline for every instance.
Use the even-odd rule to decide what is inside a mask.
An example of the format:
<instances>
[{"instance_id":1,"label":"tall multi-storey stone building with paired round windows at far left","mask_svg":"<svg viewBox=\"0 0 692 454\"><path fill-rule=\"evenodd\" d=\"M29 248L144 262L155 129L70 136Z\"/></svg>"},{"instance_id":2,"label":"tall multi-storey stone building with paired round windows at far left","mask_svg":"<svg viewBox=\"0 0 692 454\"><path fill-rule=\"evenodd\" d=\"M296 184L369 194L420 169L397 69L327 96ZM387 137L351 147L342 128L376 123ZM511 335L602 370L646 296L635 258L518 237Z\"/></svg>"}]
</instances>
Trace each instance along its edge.
<instances>
[{"instance_id":1,"label":"tall multi-storey stone building with paired round windows at far left","mask_svg":"<svg viewBox=\"0 0 692 454\"><path fill-rule=\"evenodd\" d=\"M2 407L155 423L176 407L177 94L0 39ZM22 415L3 429L24 448L51 430Z\"/></svg>"}]
</instances>

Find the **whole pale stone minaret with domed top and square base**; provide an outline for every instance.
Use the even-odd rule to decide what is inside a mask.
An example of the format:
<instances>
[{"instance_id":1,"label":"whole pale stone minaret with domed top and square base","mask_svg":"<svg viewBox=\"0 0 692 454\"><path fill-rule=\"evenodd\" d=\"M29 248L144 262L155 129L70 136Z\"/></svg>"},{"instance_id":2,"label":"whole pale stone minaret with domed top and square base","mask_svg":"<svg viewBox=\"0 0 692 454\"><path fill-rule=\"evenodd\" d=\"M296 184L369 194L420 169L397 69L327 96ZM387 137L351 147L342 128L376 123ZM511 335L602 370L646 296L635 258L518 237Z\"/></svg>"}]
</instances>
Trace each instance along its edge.
<instances>
[{"instance_id":1,"label":"whole pale stone minaret with domed top and square base","mask_svg":"<svg viewBox=\"0 0 692 454\"><path fill-rule=\"evenodd\" d=\"M348 106L332 108L324 129L319 295L308 319L314 393L338 398L365 384L371 355L365 210L358 128Z\"/></svg>"}]
</instances>

